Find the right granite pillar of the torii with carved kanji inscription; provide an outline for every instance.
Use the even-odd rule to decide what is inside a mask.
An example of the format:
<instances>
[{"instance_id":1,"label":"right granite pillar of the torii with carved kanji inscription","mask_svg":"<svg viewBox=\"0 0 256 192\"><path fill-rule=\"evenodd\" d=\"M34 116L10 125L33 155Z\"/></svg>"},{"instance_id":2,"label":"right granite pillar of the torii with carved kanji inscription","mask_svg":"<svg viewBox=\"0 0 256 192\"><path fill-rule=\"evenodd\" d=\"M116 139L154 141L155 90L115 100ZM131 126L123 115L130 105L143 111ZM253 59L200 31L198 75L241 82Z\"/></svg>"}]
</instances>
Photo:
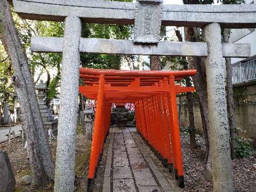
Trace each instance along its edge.
<instances>
[{"instance_id":1,"label":"right granite pillar of the torii with carved kanji inscription","mask_svg":"<svg viewBox=\"0 0 256 192\"><path fill-rule=\"evenodd\" d=\"M204 27L204 41L208 43L205 60L214 192L233 192L220 24Z\"/></svg>"}]
</instances>

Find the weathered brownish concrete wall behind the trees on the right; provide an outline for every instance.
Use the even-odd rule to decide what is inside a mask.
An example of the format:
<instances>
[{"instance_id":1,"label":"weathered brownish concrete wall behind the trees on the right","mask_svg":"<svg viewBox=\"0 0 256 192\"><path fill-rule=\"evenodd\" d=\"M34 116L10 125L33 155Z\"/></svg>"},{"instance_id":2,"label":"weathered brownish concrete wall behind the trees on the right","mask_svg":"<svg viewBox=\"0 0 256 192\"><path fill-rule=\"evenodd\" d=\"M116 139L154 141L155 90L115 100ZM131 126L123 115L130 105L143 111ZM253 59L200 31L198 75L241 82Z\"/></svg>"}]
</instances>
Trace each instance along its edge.
<instances>
[{"instance_id":1,"label":"weathered brownish concrete wall behind the trees on the right","mask_svg":"<svg viewBox=\"0 0 256 192\"><path fill-rule=\"evenodd\" d=\"M233 90L236 103L235 111L237 128L245 130L246 132L240 132L240 135L253 139L253 145L256 146L256 83L236 86ZM189 124L186 96L177 96L177 103L180 126L187 127ZM197 131L200 134L203 134L198 103L194 104L194 119Z\"/></svg>"}]
</instances>

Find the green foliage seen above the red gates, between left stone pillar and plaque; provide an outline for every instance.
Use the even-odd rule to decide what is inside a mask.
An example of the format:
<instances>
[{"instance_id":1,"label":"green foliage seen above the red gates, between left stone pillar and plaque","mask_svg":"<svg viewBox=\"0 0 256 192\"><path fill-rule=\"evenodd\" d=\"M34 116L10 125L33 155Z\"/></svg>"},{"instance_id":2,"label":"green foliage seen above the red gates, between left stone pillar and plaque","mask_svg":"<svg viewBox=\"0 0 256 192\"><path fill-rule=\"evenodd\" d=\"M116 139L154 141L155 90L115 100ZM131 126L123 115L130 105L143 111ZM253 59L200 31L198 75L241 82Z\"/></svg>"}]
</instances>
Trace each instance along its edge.
<instances>
[{"instance_id":1,"label":"green foliage seen above the red gates, between left stone pillar and plaque","mask_svg":"<svg viewBox=\"0 0 256 192\"><path fill-rule=\"evenodd\" d=\"M115 0L132 2L132 0ZM82 37L104 39L131 39L134 32L133 25L118 24L83 24ZM141 62L139 56L107 55L107 54L80 54L82 67L97 69L120 69L122 62L127 62L131 69L138 69L135 62Z\"/></svg>"}]
</instances>

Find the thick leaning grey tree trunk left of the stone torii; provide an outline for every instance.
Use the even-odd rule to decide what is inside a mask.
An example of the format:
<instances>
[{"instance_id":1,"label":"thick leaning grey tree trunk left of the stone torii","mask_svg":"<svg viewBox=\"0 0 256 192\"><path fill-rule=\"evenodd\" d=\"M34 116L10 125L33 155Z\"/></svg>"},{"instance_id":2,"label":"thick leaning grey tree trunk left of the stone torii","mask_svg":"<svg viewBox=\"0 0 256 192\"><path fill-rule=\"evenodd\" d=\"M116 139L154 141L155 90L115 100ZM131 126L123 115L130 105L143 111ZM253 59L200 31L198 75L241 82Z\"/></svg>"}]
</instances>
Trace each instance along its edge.
<instances>
[{"instance_id":1,"label":"thick leaning grey tree trunk left of the stone torii","mask_svg":"<svg viewBox=\"0 0 256 192\"><path fill-rule=\"evenodd\" d=\"M22 50L7 0L0 1L0 14L0 38L14 69L12 82L24 111L33 184L36 187L47 186L54 180L54 164L36 98L34 82L28 68L28 60Z\"/></svg>"}]
</instances>

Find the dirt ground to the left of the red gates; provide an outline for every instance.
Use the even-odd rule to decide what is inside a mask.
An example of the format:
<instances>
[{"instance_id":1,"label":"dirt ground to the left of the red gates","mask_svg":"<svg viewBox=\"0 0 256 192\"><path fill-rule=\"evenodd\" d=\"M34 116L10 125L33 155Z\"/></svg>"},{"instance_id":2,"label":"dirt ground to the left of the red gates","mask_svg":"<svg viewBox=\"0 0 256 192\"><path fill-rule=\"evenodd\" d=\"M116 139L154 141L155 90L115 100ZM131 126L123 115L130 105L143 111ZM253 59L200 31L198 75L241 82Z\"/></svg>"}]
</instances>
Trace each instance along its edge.
<instances>
[{"instance_id":1,"label":"dirt ground to the left of the red gates","mask_svg":"<svg viewBox=\"0 0 256 192\"><path fill-rule=\"evenodd\" d=\"M27 150L24 149L22 145L22 140L16 138L17 147L14 149L14 142L12 140L12 152L8 154L10 162L12 164L12 169L16 178L16 189L15 192L51 192L53 191L53 186L48 186L45 189L34 189L31 186L23 186L19 183L20 178L25 175L31 175L30 164L28 160ZM0 150L7 152L7 142L0 144ZM56 154L56 140L52 140L52 145L50 146L53 160L55 162ZM88 141L84 135L79 134L76 137L76 180L75 180L75 191L83 191L85 188L85 182L87 182L87 172L88 172L88 159L90 156L90 141Z\"/></svg>"}]
</instances>

